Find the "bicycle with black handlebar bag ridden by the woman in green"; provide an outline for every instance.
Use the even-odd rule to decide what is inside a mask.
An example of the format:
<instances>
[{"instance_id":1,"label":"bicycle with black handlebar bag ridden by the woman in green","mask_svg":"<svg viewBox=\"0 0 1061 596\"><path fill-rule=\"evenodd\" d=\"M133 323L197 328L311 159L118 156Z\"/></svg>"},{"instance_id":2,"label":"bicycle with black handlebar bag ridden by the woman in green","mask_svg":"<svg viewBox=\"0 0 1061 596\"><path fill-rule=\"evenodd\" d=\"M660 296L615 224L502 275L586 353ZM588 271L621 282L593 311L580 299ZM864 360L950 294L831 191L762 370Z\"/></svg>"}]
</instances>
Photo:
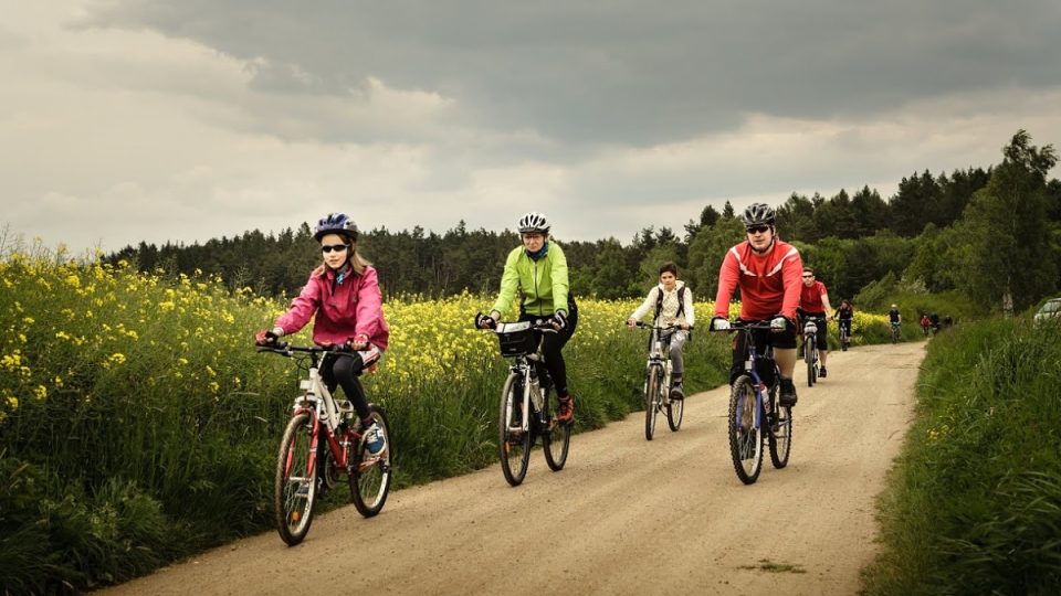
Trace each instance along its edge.
<instances>
[{"instance_id":1,"label":"bicycle with black handlebar bag ridden by the woman in green","mask_svg":"<svg viewBox=\"0 0 1061 596\"><path fill-rule=\"evenodd\" d=\"M549 469L564 469L571 425L556 419L559 397L549 391L553 383L538 352L539 333L555 333L553 326L546 321L498 322L494 332L501 355L513 359L501 390L497 451L505 480L515 487L527 476L530 448L538 437Z\"/></svg>"}]
</instances>

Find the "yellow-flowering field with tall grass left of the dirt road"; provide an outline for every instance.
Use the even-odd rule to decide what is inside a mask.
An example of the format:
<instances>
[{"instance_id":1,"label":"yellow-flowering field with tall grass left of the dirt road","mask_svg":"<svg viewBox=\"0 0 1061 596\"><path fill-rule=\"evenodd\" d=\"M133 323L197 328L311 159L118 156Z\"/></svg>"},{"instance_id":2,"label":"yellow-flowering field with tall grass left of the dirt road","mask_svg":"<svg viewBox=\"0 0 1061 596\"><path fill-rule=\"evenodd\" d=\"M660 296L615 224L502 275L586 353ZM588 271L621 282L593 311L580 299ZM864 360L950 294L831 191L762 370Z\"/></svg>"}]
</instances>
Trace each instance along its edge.
<instances>
[{"instance_id":1,"label":"yellow-flowering field with tall grass left of the dirt road","mask_svg":"<svg viewBox=\"0 0 1061 596\"><path fill-rule=\"evenodd\" d=\"M385 305L391 347L364 381L389 413L397 487L496 459L506 362L492 333L472 329L489 302ZM0 592L113 584L270 526L298 374L251 338L285 306L201 274L0 259ZM641 407L645 334L622 324L634 306L580 305L565 350L578 430ZM697 310L704 324L710 305ZM855 332L881 321L862 315ZM724 383L728 362L727 338L696 331L687 389Z\"/></svg>"}]
</instances>

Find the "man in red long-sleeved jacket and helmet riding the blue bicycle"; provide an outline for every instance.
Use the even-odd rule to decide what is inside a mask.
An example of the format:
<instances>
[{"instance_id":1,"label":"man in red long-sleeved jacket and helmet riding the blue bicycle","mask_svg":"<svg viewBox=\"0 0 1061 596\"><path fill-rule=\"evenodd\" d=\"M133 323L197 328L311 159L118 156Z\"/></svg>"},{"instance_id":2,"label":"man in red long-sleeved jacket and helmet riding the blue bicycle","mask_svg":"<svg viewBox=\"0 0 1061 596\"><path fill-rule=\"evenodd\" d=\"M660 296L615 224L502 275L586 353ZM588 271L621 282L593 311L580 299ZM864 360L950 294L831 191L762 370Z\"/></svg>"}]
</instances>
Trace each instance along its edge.
<instances>
[{"instance_id":1,"label":"man in red long-sleeved jacket and helmet riding the blue bicycle","mask_svg":"<svg viewBox=\"0 0 1061 596\"><path fill-rule=\"evenodd\" d=\"M754 203L742 217L747 240L726 253L718 272L718 294L715 297L713 330L728 329L729 300L733 290L740 288L739 320L770 321L773 332L755 330L756 345L774 345L774 360L781 373L781 406L796 405L796 309L802 287L802 258L795 246L781 242L774 227L774 209ZM734 344L731 381L744 371L744 336Z\"/></svg>"}]
</instances>

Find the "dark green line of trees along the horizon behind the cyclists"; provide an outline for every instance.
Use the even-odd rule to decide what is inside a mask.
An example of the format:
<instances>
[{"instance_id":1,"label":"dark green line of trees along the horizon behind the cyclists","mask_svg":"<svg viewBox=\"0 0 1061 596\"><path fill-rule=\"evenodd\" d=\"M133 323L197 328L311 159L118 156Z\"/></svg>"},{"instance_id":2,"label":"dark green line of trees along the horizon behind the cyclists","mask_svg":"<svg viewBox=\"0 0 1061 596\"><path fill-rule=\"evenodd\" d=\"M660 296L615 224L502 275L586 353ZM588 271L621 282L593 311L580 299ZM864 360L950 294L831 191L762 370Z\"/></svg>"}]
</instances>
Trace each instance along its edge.
<instances>
[{"instance_id":1,"label":"dark green line of trees along the horizon behind the cyclists","mask_svg":"<svg viewBox=\"0 0 1061 596\"><path fill-rule=\"evenodd\" d=\"M776 205L778 235L796 245L827 284L834 304L881 280L926 291L958 290L985 308L1026 308L1061 287L1061 182L1051 145L1037 148L1019 130L999 164L903 178L884 200L863 187L830 198L792 193ZM684 230L649 226L622 243L565 241L572 291L599 298L640 297L661 263L673 260L694 292L713 297L718 267L744 227L729 202L706 205ZM518 235L463 221L444 233L386 227L363 231L359 249L380 273L388 296L495 291ZM319 264L307 223L280 233L254 230L203 244L140 243L106 257L140 270L221 275L232 287L294 295Z\"/></svg>"}]
</instances>

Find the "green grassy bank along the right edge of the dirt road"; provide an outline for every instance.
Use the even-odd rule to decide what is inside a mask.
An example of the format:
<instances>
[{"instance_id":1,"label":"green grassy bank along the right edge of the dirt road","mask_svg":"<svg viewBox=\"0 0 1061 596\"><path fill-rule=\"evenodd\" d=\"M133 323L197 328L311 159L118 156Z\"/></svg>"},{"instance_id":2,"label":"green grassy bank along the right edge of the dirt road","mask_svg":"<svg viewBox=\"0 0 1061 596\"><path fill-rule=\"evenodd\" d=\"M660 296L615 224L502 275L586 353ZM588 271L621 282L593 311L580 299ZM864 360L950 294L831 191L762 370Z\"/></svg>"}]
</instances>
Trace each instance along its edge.
<instances>
[{"instance_id":1,"label":"green grassy bank along the right edge of the dirt road","mask_svg":"<svg viewBox=\"0 0 1061 596\"><path fill-rule=\"evenodd\" d=\"M978 322L929 343L868 593L1057 593L1059 379L1057 321Z\"/></svg>"}]
</instances>

